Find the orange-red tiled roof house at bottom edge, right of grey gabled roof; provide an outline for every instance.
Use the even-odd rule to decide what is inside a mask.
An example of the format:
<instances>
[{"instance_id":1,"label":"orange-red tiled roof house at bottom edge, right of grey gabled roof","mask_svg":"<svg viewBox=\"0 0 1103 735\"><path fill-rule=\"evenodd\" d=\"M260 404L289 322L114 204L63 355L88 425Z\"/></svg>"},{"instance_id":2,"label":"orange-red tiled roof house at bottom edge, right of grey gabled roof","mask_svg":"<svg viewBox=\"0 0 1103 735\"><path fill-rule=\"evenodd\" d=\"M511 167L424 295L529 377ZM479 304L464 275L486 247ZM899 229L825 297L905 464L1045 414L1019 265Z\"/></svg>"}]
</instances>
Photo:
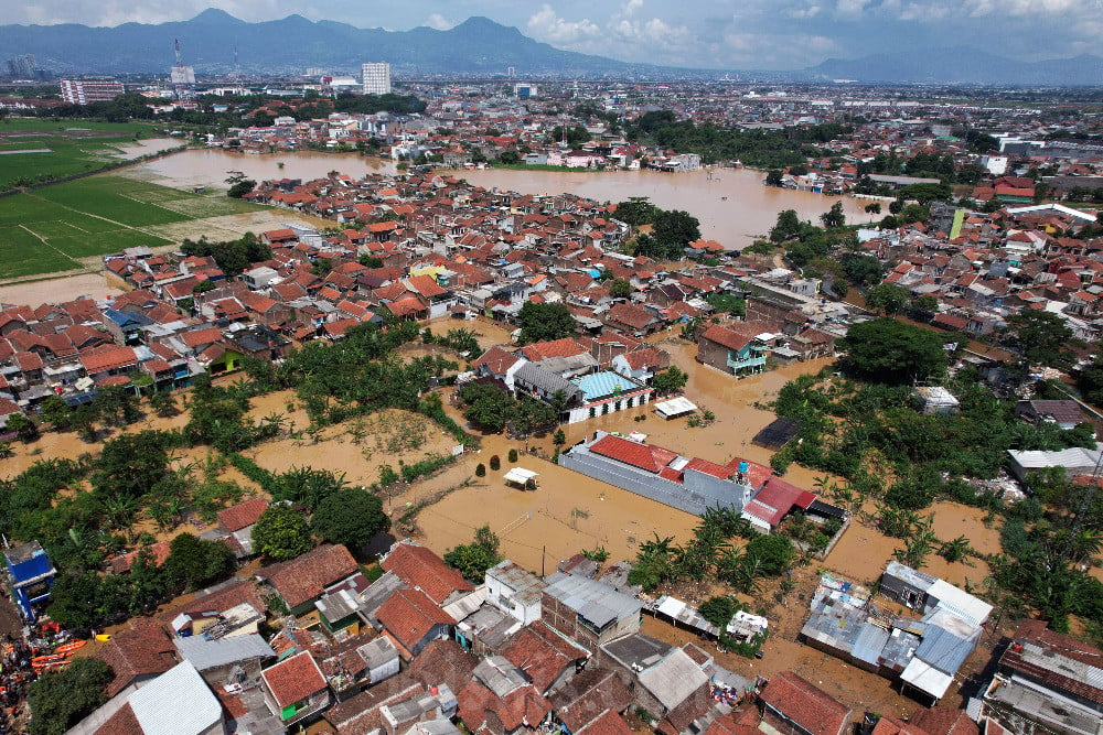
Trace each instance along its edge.
<instances>
[{"instance_id":1,"label":"orange-red tiled roof house at bottom edge, right of grey gabled roof","mask_svg":"<svg viewBox=\"0 0 1103 735\"><path fill-rule=\"evenodd\" d=\"M759 695L762 718L782 732L843 735L854 711L792 671L770 679Z\"/></svg>"}]
</instances>

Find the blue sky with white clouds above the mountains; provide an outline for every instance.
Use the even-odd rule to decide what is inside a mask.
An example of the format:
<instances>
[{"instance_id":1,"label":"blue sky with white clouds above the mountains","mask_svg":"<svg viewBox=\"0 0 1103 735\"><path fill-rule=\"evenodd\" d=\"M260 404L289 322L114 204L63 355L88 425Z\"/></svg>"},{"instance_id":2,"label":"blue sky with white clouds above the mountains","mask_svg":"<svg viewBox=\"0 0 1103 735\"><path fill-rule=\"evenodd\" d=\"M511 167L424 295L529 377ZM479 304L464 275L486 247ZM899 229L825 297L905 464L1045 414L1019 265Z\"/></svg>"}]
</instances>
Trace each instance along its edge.
<instances>
[{"instance_id":1,"label":"blue sky with white clouds above the mountains","mask_svg":"<svg viewBox=\"0 0 1103 735\"><path fill-rule=\"evenodd\" d=\"M627 62L795 69L828 57L968 46L1038 61L1096 53L1103 0L0 0L4 23L118 25L215 7L360 28L445 30L485 15L567 51Z\"/></svg>"}]
</instances>

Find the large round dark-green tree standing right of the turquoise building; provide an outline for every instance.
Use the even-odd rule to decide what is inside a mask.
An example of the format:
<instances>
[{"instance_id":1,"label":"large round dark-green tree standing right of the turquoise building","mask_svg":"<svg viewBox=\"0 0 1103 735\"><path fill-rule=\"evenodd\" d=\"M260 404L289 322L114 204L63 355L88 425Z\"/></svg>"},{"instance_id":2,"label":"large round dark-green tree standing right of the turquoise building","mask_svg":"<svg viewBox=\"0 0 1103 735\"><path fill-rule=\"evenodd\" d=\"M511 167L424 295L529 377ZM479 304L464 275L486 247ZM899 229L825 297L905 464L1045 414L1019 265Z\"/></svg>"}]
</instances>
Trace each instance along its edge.
<instances>
[{"instance_id":1,"label":"large round dark-green tree standing right of the turquoise building","mask_svg":"<svg viewBox=\"0 0 1103 735\"><path fill-rule=\"evenodd\" d=\"M941 335L888 317L853 325L838 344L846 371L878 382L938 378L949 364Z\"/></svg>"}]
</instances>

